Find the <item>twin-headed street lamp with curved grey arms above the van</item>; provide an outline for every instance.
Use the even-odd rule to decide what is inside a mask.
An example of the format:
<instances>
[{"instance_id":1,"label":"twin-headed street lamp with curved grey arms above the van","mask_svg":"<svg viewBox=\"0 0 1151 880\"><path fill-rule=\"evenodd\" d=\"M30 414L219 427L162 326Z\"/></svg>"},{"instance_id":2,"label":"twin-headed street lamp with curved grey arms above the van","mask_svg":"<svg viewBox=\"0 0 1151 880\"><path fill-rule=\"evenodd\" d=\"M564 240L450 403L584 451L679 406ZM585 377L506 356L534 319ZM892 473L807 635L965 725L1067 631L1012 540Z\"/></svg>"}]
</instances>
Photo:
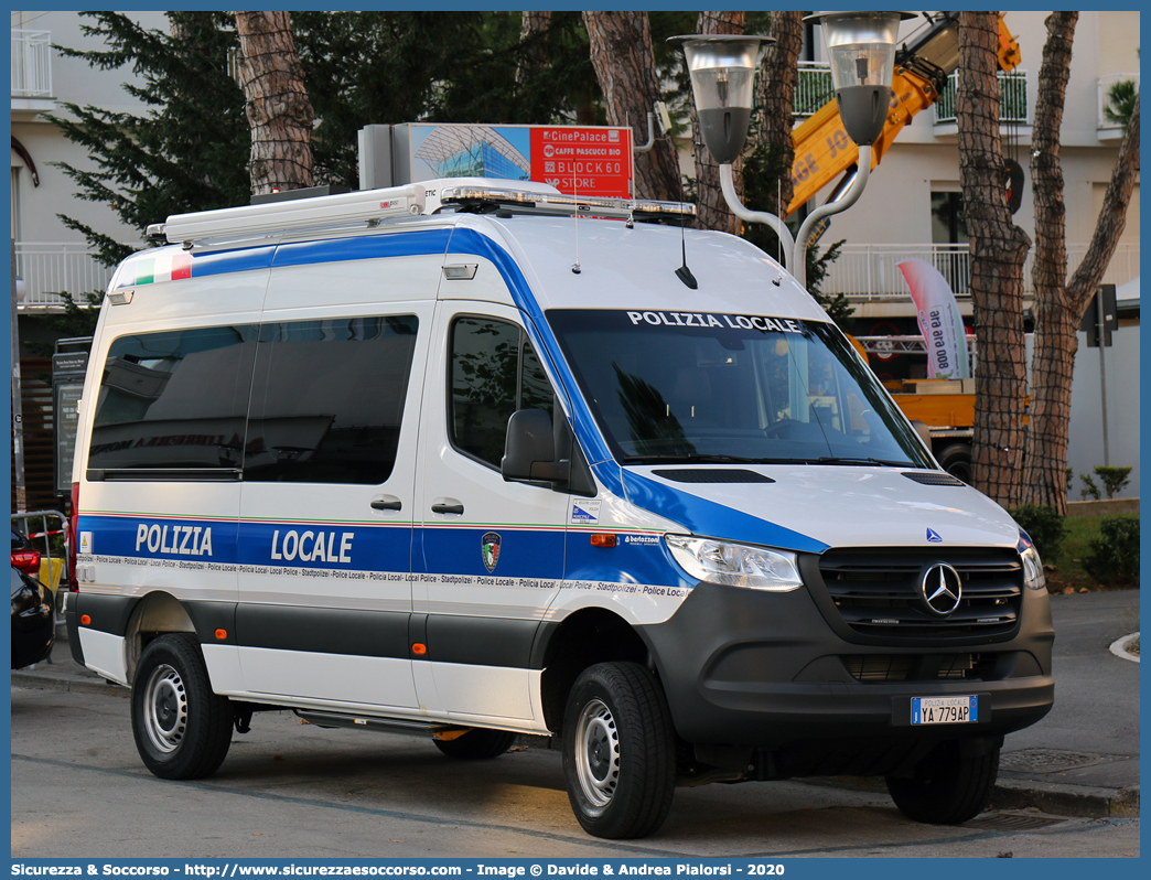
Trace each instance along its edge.
<instances>
[{"instance_id":1,"label":"twin-headed street lamp with curved grey arms above the van","mask_svg":"<svg viewBox=\"0 0 1151 880\"><path fill-rule=\"evenodd\" d=\"M910 17L910 13L834 12L816 13L805 18L823 25L821 30L831 62L831 81L836 89L839 115L848 137L859 145L860 157L859 170L847 192L813 211L794 241L780 218L748 211L740 204L731 176L731 162L742 149L750 119L752 83L755 68L759 67L757 63L752 63L752 58L757 54L760 44L770 38L696 35L672 37L669 40L680 45L687 59L703 143L719 164L719 182L727 206L741 220L767 223L776 230L784 242L785 255L790 255L785 268L805 287L811 229L825 217L854 205L867 187L871 173L871 144L883 131L891 103L899 23ZM735 48L740 45L738 40L742 41L739 50ZM735 81L740 89L746 89L746 98L742 92L738 98L734 97L730 85L721 86L722 83ZM742 109L745 105L737 104L737 100L746 101L746 111ZM739 131L733 130L737 124L742 126Z\"/></svg>"}]
</instances>

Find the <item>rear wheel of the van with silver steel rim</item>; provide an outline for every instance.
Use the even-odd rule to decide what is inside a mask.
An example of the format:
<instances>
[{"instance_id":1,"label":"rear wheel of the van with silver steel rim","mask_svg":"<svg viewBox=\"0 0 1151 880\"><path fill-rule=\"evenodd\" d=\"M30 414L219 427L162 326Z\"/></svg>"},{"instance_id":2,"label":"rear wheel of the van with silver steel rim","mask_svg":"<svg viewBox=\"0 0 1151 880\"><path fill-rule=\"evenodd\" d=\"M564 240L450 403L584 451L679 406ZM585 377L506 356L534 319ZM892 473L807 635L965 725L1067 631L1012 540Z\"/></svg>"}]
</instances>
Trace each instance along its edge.
<instances>
[{"instance_id":1,"label":"rear wheel of the van with silver steel rim","mask_svg":"<svg viewBox=\"0 0 1151 880\"><path fill-rule=\"evenodd\" d=\"M203 779L231 745L231 706L212 692L196 636L171 632L144 648L132 682L132 734L161 779Z\"/></svg>"}]
</instances>

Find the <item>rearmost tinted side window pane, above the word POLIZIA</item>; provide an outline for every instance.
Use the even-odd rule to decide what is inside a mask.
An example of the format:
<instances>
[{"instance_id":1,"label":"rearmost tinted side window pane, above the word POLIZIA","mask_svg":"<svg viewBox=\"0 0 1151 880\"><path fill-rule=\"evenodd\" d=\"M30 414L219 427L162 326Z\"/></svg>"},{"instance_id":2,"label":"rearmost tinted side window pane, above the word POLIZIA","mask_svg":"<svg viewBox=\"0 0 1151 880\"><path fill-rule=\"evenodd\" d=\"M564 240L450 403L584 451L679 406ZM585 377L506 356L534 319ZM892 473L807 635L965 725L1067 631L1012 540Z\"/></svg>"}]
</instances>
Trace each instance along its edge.
<instances>
[{"instance_id":1,"label":"rearmost tinted side window pane, above the word POLIZIA","mask_svg":"<svg viewBox=\"0 0 1151 880\"><path fill-rule=\"evenodd\" d=\"M104 366L87 466L239 466L258 327L121 336Z\"/></svg>"}]
</instances>

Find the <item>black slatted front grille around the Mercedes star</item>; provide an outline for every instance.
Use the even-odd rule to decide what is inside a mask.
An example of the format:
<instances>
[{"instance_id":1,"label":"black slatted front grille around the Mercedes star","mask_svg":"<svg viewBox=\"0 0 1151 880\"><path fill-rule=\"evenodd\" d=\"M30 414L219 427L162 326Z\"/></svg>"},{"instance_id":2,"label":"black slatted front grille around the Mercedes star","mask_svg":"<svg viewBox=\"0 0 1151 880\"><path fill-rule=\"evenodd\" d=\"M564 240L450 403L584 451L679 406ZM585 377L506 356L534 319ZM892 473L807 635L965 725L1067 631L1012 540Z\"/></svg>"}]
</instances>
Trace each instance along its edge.
<instances>
[{"instance_id":1,"label":"black slatted front grille around the Mercedes star","mask_svg":"<svg viewBox=\"0 0 1151 880\"><path fill-rule=\"evenodd\" d=\"M950 615L923 599L923 574L943 562L960 576L962 595ZM820 557L820 574L844 622L868 636L1003 636L1019 621L1023 571L1011 548L843 548Z\"/></svg>"}]
</instances>

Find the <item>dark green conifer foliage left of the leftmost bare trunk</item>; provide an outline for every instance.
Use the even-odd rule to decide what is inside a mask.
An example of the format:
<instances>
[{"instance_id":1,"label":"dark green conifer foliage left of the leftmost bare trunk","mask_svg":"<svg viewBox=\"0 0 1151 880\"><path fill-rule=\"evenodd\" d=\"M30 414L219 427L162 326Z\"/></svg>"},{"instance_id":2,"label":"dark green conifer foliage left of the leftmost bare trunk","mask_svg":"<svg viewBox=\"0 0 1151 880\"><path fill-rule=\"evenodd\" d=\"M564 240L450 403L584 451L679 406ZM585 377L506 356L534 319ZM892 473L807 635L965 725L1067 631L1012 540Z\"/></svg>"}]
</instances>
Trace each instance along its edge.
<instances>
[{"instance_id":1,"label":"dark green conifer foliage left of the leftmost bare trunk","mask_svg":"<svg viewBox=\"0 0 1151 880\"><path fill-rule=\"evenodd\" d=\"M119 13L84 13L85 36L106 48L55 50L93 68L130 67L140 78L124 90L142 101L143 115L63 104L52 121L64 137L84 146L96 169L60 167L76 182L77 198L112 207L143 233L169 214L245 204L249 198L250 139L244 94L228 73L236 33L227 13L168 13L171 33L147 30ZM60 214L83 233L98 258L114 265L131 248Z\"/></svg>"}]
</instances>

